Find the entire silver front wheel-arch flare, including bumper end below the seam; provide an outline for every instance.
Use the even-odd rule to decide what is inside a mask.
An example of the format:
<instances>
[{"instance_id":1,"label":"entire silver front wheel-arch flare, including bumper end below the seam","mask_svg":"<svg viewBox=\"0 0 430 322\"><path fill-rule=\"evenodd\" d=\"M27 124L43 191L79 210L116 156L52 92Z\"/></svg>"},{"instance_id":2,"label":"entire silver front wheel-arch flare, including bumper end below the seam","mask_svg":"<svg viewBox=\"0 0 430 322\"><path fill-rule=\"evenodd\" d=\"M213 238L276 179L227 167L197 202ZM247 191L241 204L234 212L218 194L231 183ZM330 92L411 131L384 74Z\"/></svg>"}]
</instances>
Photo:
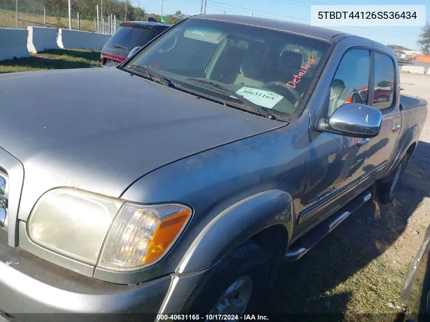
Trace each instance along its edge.
<instances>
[{"instance_id":1,"label":"entire silver front wheel-arch flare, including bumper end below the seam","mask_svg":"<svg viewBox=\"0 0 430 322\"><path fill-rule=\"evenodd\" d=\"M233 204L212 219L182 258L159 313L187 312L219 261L264 228L282 225L289 240L292 201L284 191L265 191Z\"/></svg>"}]
</instances>

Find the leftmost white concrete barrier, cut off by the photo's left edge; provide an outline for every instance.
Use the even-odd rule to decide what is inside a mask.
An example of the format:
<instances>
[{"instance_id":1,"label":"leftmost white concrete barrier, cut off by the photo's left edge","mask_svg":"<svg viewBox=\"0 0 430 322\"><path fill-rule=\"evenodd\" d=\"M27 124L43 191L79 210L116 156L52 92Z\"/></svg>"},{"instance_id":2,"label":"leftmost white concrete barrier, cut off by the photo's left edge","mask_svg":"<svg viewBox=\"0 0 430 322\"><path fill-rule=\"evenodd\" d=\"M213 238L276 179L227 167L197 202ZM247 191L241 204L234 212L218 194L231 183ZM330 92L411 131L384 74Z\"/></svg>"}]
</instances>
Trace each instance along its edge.
<instances>
[{"instance_id":1,"label":"leftmost white concrete barrier, cut off by the photo's left edge","mask_svg":"<svg viewBox=\"0 0 430 322\"><path fill-rule=\"evenodd\" d=\"M0 28L0 61L28 57L26 29Z\"/></svg>"}]
</instances>

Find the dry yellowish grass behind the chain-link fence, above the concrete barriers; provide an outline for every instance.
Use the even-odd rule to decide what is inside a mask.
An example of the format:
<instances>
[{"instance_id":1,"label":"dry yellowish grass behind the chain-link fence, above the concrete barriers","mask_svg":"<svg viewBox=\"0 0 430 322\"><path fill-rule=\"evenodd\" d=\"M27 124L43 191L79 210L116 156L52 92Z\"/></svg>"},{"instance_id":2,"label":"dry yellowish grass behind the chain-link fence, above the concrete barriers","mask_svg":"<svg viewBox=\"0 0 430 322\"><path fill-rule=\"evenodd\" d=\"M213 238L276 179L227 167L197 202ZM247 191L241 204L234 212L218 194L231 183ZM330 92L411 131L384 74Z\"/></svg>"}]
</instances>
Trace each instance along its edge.
<instances>
[{"instance_id":1,"label":"dry yellowish grass behind the chain-link fence, above the concrete barriers","mask_svg":"<svg viewBox=\"0 0 430 322\"><path fill-rule=\"evenodd\" d=\"M43 26L43 8L41 8L41 14L33 13L18 13L18 28L27 28L28 25ZM26 22L26 21L32 22ZM53 24L47 24L47 27L63 28L69 26L68 17L52 17L46 16L46 22ZM55 26L56 25L56 26ZM11 10L0 9L0 27L16 28L16 13ZM78 27L78 20L72 18L72 27ZM80 30L82 31L95 31L94 20L80 20Z\"/></svg>"}]
</instances>

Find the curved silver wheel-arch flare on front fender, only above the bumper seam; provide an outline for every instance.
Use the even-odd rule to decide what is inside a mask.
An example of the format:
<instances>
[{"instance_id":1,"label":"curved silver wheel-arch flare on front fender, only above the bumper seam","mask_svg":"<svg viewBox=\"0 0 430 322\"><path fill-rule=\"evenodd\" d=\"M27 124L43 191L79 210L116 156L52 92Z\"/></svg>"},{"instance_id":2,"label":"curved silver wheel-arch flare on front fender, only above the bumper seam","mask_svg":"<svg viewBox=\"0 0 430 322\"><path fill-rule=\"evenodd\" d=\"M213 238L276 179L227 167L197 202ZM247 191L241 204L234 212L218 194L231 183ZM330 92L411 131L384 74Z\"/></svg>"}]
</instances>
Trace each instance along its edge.
<instances>
[{"instance_id":1,"label":"curved silver wheel-arch flare on front fender, only above the bumper seam","mask_svg":"<svg viewBox=\"0 0 430 322\"><path fill-rule=\"evenodd\" d=\"M276 224L291 236L293 200L281 190L250 196L216 216L199 233L182 259L177 273L207 269L257 232Z\"/></svg>"}]
</instances>

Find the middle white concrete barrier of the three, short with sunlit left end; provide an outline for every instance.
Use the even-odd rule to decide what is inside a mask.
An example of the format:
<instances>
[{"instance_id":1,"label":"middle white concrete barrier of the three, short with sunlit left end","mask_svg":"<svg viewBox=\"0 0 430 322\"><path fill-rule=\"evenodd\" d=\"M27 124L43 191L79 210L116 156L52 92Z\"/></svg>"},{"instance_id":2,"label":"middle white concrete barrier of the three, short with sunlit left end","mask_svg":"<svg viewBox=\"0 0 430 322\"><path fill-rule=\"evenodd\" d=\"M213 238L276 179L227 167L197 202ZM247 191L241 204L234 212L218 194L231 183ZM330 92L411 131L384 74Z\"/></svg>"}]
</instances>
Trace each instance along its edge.
<instances>
[{"instance_id":1,"label":"middle white concrete barrier of the three, short with sunlit left end","mask_svg":"<svg viewBox=\"0 0 430 322\"><path fill-rule=\"evenodd\" d=\"M60 49L56 43L56 29L28 26L27 49L37 53L47 49Z\"/></svg>"}]
</instances>

